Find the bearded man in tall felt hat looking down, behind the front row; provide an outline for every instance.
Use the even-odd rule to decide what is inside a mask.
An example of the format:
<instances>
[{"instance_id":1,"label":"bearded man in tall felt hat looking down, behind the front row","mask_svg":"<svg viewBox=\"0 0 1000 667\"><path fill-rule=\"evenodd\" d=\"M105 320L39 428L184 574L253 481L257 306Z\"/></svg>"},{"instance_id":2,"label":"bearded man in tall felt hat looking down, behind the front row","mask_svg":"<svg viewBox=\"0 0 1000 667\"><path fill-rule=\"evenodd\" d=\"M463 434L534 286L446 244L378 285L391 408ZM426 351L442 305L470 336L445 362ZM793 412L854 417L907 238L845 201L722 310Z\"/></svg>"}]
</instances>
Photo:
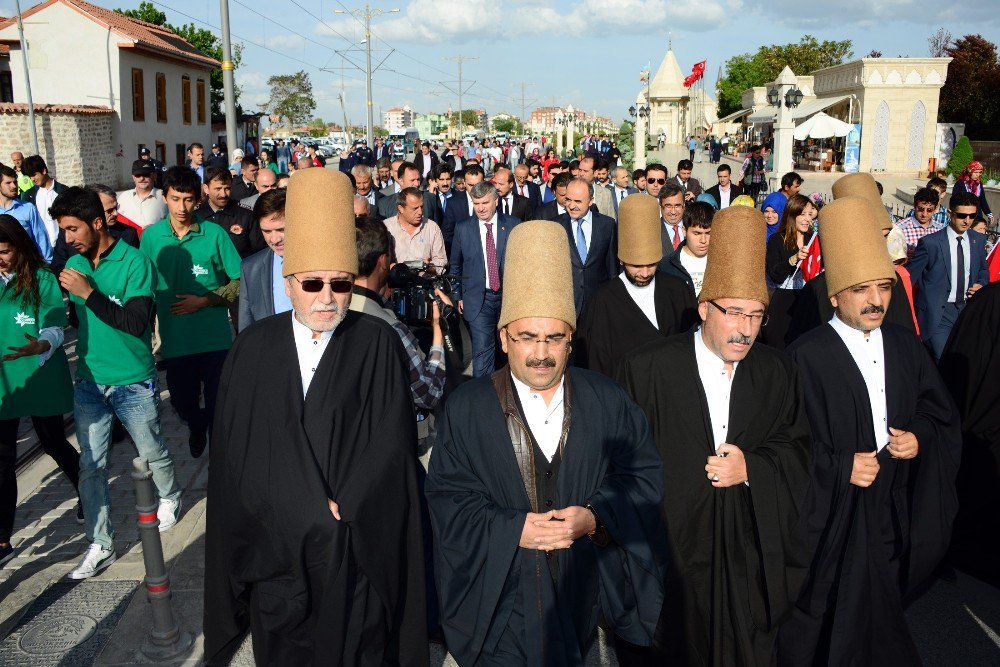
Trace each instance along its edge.
<instances>
[{"instance_id":1,"label":"bearded man in tall felt hat looking down, behind the front row","mask_svg":"<svg viewBox=\"0 0 1000 667\"><path fill-rule=\"evenodd\" d=\"M679 278L657 271L662 257L660 207L652 197L629 195L618 207L621 273L583 309L577 365L613 378L626 353L691 328L697 317L694 294Z\"/></svg>"}]
</instances>

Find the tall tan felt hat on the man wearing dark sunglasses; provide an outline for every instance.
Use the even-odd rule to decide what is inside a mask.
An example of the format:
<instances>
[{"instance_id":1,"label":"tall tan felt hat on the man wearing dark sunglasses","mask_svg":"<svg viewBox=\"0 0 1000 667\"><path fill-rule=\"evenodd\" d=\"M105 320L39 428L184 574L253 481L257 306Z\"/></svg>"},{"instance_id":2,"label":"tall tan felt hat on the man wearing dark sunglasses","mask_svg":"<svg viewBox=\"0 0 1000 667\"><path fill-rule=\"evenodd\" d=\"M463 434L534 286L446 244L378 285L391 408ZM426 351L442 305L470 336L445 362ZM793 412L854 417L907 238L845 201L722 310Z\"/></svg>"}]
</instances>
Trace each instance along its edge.
<instances>
[{"instance_id":1,"label":"tall tan felt hat on the man wearing dark sunglasses","mask_svg":"<svg viewBox=\"0 0 1000 667\"><path fill-rule=\"evenodd\" d=\"M304 271L346 271L358 275L354 189L346 174L303 169L288 184L285 200L287 278Z\"/></svg>"}]
</instances>

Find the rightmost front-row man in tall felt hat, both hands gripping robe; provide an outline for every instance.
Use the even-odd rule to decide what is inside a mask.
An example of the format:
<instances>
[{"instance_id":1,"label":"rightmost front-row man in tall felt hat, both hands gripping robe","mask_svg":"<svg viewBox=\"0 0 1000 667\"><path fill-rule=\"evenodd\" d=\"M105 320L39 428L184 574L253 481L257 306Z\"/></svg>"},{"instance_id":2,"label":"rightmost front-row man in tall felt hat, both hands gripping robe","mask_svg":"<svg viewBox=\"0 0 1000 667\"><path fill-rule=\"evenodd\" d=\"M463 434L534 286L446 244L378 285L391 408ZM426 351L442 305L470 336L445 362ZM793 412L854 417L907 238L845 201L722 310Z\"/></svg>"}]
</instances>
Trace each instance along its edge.
<instances>
[{"instance_id":1,"label":"rightmost front-row man in tall felt hat, both hands gripping robe","mask_svg":"<svg viewBox=\"0 0 1000 667\"><path fill-rule=\"evenodd\" d=\"M789 348L815 451L814 553L782 664L919 664L903 599L945 554L958 507L958 415L917 337L885 322L896 272L880 218L850 195L820 211L835 313Z\"/></svg>"}]
</instances>

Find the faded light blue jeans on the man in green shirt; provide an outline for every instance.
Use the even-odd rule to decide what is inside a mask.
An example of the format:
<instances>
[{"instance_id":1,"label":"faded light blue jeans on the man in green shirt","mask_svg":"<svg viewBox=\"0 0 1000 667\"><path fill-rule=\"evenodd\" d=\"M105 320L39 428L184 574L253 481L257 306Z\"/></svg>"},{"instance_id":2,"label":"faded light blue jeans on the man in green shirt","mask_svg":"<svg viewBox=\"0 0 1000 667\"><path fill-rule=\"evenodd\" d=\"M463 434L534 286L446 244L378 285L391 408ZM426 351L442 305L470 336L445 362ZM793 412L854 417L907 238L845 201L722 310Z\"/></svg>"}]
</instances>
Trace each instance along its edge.
<instances>
[{"instance_id":1,"label":"faded light blue jeans on the man in green shirt","mask_svg":"<svg viewBox=\"0 0 1000 667\"><path fill-rule=\"evenodd\" d=\"M174 460L160 428L159 387L155 376L149 382L120 386L81 379L76 381L74 404L87 540L111 549L115 534L110 519L108 450L115 416L132 436L139 456L149 461L160 498L177 500L181 496L182 489L174 478Z\"/></svg>"}]
</instances>

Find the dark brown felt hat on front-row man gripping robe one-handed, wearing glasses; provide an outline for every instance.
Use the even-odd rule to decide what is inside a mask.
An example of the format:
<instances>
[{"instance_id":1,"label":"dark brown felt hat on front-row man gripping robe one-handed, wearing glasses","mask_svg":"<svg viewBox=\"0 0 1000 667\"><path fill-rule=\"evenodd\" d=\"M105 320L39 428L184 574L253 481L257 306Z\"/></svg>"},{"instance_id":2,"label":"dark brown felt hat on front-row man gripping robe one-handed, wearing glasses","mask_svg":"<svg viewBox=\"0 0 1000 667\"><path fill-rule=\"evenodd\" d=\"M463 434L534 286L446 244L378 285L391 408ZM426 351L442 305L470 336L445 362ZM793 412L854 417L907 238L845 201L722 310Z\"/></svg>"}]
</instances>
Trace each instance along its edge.
<instances>
[{"instance_id":1,"label":"dark brown felt hat on front-row man gripping robe one-handed, wearing glasses","mask_svg":"<svg viewBox=\"0 0 1000 667\"><path fill-rule=\"evenodd\" d=\"M699 301L750 299L768 304L764 279L764 214L748 206L730 206L712 218L712 240Z\"/></svg>"}]
</instances>

